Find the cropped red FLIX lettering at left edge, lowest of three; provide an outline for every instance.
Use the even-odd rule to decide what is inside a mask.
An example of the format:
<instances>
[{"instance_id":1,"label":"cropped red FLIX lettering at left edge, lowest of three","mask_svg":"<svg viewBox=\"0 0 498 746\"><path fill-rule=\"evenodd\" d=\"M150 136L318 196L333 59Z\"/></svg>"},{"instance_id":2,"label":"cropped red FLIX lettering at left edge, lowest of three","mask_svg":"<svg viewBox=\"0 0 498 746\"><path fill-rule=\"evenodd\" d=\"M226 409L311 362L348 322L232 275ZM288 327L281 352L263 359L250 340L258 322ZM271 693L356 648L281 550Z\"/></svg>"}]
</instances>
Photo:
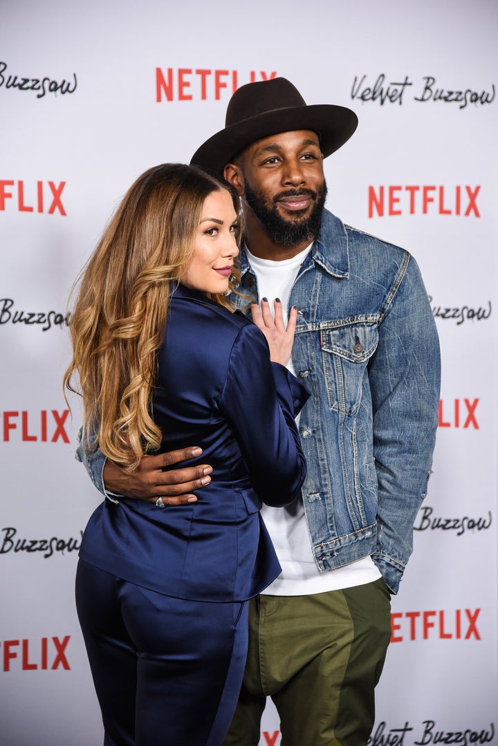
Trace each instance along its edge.
<instances>
[{"instance_id":1,"label":"cropped red FLIX lettering at left edge, lowest of three","mask_svg":"<svg viewBox=\"0 0 498 746\"><path fill-rule=\"evenodd\" d=\"M1 666L8 671L70 671L66 648L71 639L42 637L41 639L4 640L0 642Z\"/></svg>"}]
</instances>

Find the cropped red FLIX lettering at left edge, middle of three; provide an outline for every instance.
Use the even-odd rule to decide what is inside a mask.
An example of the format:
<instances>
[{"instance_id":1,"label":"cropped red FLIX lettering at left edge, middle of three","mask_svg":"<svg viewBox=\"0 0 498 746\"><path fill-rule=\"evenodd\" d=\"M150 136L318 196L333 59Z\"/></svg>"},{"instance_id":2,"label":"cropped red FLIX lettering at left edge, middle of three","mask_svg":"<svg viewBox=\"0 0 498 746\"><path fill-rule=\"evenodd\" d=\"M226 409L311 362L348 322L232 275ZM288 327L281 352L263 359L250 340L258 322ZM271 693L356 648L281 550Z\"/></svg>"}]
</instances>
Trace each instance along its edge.
<instances>
[{"instance_id":1,"label":"cropped red FLIX lettering at left edge, middle of three","mask_svg":"<svg viewBox=\"0 0 498 746\"><path fill-rule=\"evenodd\" d=\"M66 419L69 410L5 410L0 413L1 439L4 442L69 443Z\"/></svg>"}]
</instances>

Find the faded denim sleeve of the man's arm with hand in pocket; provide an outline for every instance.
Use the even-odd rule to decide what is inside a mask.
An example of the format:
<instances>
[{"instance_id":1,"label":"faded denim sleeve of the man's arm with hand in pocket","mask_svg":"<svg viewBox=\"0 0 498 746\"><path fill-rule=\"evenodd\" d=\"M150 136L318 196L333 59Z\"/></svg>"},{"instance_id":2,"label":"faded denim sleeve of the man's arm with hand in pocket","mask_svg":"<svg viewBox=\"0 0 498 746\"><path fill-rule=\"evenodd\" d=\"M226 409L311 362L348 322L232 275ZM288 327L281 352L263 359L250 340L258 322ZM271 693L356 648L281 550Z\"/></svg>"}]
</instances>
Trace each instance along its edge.
<instances>
[{"instance_id":1,"label":"faded denim sleeve of the man's arm with hand in pocket","mask_svg":"<svg viewBox=\"0 0 498 746\"><path fill-rule=\"evenodd\" d=\"M408 257L379 325L369 366L373 455L379 485L373 560L392 592L413 548L413 526L431 474L438 427L438 333L417 263Z\"/></svg>"}]
</instances>

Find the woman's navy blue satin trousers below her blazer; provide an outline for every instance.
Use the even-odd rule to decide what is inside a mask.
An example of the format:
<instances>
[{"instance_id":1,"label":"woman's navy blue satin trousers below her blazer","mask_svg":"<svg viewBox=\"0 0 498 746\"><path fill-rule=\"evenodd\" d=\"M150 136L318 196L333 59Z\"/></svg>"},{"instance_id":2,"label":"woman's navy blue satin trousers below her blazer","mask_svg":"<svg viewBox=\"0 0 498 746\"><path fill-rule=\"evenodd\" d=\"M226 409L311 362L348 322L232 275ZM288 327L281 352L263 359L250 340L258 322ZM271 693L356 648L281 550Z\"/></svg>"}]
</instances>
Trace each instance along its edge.
<instances>
[{"instance_id":1,"label":"woman's navy blue satin trousers below her blazer","mask_svg":"<svg viewBox=\"0 0 498 746\"><path fill-rule=\"evenodd\" d=\"M79 560L76 606L104 746L222 744L242 683L249 604L171 598Z\"/></svg>"}]
</instances>

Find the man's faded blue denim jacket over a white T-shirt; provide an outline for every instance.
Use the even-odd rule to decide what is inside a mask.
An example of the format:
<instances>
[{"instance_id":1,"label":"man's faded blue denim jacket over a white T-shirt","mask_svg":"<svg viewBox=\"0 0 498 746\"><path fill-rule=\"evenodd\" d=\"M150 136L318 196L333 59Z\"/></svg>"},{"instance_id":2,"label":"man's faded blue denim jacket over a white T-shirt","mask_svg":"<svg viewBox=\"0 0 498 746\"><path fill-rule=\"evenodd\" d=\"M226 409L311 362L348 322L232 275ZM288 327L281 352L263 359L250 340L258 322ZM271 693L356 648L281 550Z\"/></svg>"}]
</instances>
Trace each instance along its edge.
<instances>
[{"instance_id":1,"label":"man's faded blue denim jacket over a white T-shirt","mask_svg":"<svg viewBox=\"0 0 498 746\"><path fill-rule=\"evenodd\" d=\"M240 292L258 300L240 253ZM246 309L248 301L234 296ZM438 333L414 258L323 213L290 292L292 360L311 392L299 432L302 500L320 571L371 555L396 593L431 474L438 425ZM248 406L250 404L248 403ZM104 492L100 451L81 454Z\"/></svg>"}]
</instances>

